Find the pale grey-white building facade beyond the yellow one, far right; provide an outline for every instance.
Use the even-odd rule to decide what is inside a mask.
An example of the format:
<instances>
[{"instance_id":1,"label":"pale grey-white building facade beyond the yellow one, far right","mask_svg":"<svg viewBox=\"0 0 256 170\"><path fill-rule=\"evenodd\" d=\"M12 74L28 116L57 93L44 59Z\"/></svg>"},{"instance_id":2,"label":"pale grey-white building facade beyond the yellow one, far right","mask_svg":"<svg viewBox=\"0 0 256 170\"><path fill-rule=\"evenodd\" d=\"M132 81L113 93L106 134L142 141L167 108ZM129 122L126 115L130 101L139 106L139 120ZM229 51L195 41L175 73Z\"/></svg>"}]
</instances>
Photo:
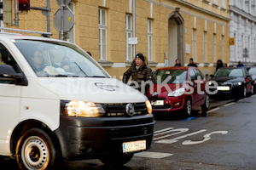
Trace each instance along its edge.
<instances>
[{"instance_id":1,"label":"pale grey-white building facade beyond the yellow one, far right","mask_svg":"<svg viewBox=\"0 0 256 170\"><path fill-rule=\"evenodd\" d=\"M255 5L255 0L230 0L230 65L256 64Z\"/></svg>"}]
</instances>

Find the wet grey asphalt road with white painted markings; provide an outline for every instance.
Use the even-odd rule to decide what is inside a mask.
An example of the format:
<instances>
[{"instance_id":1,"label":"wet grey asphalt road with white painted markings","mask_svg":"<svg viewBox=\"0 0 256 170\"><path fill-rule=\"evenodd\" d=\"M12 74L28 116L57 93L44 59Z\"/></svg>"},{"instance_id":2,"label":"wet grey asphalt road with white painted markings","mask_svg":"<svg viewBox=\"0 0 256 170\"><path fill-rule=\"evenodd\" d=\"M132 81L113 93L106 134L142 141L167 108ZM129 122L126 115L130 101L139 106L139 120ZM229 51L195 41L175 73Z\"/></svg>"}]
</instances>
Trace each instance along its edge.
<instances>
[{"instance_id":1,"label":"wet grey asphalt road with white painted markings","mask_svg":"<svg viewBox=\"0 0 256 170\"><path fill-rule=\"evenodd\" d=\"M168 116L156 120L154 144L123 167L98 160L73 161L67 169L194 170L256 169L256 95L211 99L208 116ZM17 170L15 160L0 157L1 169ZM6 167L6 168L3 168Z\"/></svg>"}]
</instances>

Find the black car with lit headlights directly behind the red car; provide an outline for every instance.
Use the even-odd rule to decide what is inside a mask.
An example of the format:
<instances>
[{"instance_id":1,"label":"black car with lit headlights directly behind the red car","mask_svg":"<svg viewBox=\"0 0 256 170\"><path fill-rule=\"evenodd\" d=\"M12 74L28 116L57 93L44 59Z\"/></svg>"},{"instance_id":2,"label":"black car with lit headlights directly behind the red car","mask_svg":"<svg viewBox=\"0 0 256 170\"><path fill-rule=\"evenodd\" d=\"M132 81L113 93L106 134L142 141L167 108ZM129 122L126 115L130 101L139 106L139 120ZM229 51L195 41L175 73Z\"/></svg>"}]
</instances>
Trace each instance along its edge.
<instances>
[{"instance_id":1,"label":"black car with lit headlights directly behind the red car","mask_svg":"<svg viewBox=\"0 0 256 170\"><path fill-rule=\"evenodd\" d=\"M211 77L208 84L210 91L215 91L215 94L231 94L244 98L247 94L253 93L252 77L245 67L221 67Z\"/></svg>"}]
</instances>

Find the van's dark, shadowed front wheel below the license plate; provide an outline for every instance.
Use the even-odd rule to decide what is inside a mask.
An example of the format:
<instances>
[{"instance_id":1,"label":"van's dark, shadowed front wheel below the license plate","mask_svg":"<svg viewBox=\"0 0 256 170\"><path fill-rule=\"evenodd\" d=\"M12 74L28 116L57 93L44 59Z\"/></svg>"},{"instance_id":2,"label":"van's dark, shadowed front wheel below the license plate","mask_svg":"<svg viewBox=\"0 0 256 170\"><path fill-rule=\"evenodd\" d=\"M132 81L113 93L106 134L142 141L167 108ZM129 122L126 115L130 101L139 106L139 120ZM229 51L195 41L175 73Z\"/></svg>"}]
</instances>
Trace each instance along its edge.
<instances>
[{"instance_id":1,"label":"van's dark, shadowed front wheel below the license plate","mask_svg":"<svg viewBox=\"0 0 256 170\"><path fill-rule=\"evenodd\" d=\"M131 158L133 157L132 154L122 154L122 155L113 155L113 156L106 156L102 157L100 161L108 166L121 166L127 163L128 161L131 161Z\"/></svg>"}]
</instances>

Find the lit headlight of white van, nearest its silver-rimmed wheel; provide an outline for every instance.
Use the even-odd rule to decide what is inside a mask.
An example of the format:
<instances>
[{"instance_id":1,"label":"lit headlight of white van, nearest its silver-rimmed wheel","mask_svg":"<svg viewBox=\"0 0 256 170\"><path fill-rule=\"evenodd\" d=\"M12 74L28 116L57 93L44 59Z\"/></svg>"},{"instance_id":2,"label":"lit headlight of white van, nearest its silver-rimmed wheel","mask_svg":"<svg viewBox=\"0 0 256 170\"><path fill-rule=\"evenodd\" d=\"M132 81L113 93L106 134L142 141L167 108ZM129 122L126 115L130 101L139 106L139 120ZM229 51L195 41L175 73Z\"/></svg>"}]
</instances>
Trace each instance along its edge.
<instances>
[{"instance_id":1,"label":"lit headlight of white van, nearest its silver-rimmed wheel","mask_svg":"<svg viewBox=\"0 0 256 170\"><path fill-rule=\"evenodd\" d=\"M67 116L99 117L105 113L101 104L93 102L69 101L64 107Z\"/></svg>"}]
</instances>

